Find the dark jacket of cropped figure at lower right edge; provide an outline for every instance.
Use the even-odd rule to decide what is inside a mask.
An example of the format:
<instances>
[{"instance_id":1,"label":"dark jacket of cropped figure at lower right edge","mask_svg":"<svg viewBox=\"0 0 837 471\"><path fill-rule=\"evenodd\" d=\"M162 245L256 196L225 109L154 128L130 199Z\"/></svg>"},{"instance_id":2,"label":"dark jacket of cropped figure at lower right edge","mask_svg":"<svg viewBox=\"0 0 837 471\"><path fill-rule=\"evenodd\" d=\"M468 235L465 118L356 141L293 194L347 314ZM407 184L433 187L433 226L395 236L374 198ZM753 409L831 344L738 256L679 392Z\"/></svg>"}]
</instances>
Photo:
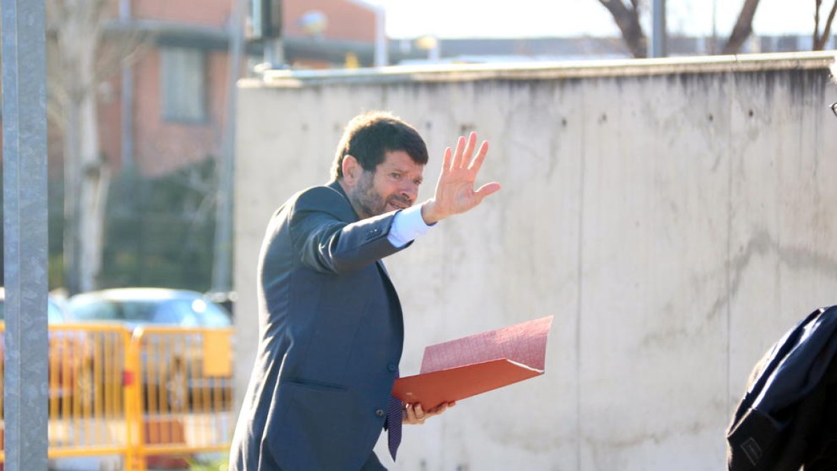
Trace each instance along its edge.
<instances>
[{"instance_id":1,"label":"dark jacket of cropped figure at lower right edge","mask_svg":"<svg viewBox=\"0 0 837 471\"><path fill-rule=\"evenodd\" d=\"M797 471L803 463L808 471L831 459L823 453L833 453L837 428L835 353L831 307L809 314L764 355L727 429L730 471Z\"/></svg>"}]
</instances>

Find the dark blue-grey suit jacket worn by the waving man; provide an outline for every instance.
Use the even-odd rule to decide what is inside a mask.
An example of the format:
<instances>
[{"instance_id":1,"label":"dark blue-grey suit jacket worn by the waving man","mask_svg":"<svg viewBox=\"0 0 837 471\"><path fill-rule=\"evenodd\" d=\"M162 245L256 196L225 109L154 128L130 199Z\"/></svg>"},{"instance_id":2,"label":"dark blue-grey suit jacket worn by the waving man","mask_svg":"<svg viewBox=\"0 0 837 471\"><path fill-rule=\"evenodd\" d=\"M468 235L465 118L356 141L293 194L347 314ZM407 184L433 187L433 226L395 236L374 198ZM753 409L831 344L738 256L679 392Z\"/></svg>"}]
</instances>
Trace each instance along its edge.
<instances>
[{"instance_id":1,"label":"dark blue-grey suit jacket worn by the waving man","mask_svg":"<svg viewBox=\"0 0 837 471\"><path fill-rule=\"evenodd\" d=\"M403 347L380 259L395 213L357 220L336 182L295 194L259 255L259 349L230 471L352 470L372 453Z\"/></svg>"}]
</instances>

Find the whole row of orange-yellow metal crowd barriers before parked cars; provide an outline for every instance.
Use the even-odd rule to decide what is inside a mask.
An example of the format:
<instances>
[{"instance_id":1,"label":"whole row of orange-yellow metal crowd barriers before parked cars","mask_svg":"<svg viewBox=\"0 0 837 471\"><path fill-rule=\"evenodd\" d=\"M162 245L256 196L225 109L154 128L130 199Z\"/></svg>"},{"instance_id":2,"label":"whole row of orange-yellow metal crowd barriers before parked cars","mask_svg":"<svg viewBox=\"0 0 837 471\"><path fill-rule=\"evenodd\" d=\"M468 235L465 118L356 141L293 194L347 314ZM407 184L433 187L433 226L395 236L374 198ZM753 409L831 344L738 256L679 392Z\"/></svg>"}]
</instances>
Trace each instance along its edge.
<instances>
[{"instance_id":1,"label":"whole row of orange-yellow metal crowd barriers before parked cars","mask_svg":"<svg viewBox=\"0 0 837 471\"><path fill-rule=\"evenodd\" d=\"M226 451L232 333L50 325L49 458L121 455L126 471L142 471L149 457Z\"/></svg>"}]
</instances>

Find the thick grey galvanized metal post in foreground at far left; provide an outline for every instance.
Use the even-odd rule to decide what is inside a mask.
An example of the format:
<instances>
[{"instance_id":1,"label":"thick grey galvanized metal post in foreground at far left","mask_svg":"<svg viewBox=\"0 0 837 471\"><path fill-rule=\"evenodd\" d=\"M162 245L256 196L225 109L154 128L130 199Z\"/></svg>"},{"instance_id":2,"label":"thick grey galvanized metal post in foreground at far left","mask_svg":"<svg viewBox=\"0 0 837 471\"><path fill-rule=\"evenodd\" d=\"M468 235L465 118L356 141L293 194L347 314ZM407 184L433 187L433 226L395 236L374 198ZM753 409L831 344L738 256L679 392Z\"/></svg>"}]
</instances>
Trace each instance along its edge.
<instances>
[{"instance_id":1,"label":"thick grey galvanized metal post in foreground at far left","mask_svg":"<svg viewBox=\"0 0 837 471\"><path fill-rule=\"evenodd\" d=\"M3 247L8 471L47 468L44 2L3 0Z\"/></svg>"}]
</instances>

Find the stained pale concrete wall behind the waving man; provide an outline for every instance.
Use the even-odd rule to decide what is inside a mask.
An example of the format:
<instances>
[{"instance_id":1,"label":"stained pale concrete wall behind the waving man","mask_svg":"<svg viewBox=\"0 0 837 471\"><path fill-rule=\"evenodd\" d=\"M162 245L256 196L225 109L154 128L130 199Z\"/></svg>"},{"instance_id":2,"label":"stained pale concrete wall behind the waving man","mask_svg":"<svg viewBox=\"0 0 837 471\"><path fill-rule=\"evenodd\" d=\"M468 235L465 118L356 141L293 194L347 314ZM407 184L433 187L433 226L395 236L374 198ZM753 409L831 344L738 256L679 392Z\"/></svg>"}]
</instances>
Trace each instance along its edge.
<instances>
[{"instance_id":1,"label":"stained pale concrete wall behind the waving man","mask_svg":"<svg viewBox=\"0 0 837 471\"><path fill-rule=\"evenodd\" d=\"M426 344L555 315L546 375L408 427L393 468L724 468L752 365L798 319L837 303L832 59L244 82L239 386L253 363L266 221L326 181L349 118L389 109L428 142L424 198L444 148L472 129L491 146L482 180L503 184L386 261L408 332L403 374L418 372Z\"/></svg>"}]
</instances>

